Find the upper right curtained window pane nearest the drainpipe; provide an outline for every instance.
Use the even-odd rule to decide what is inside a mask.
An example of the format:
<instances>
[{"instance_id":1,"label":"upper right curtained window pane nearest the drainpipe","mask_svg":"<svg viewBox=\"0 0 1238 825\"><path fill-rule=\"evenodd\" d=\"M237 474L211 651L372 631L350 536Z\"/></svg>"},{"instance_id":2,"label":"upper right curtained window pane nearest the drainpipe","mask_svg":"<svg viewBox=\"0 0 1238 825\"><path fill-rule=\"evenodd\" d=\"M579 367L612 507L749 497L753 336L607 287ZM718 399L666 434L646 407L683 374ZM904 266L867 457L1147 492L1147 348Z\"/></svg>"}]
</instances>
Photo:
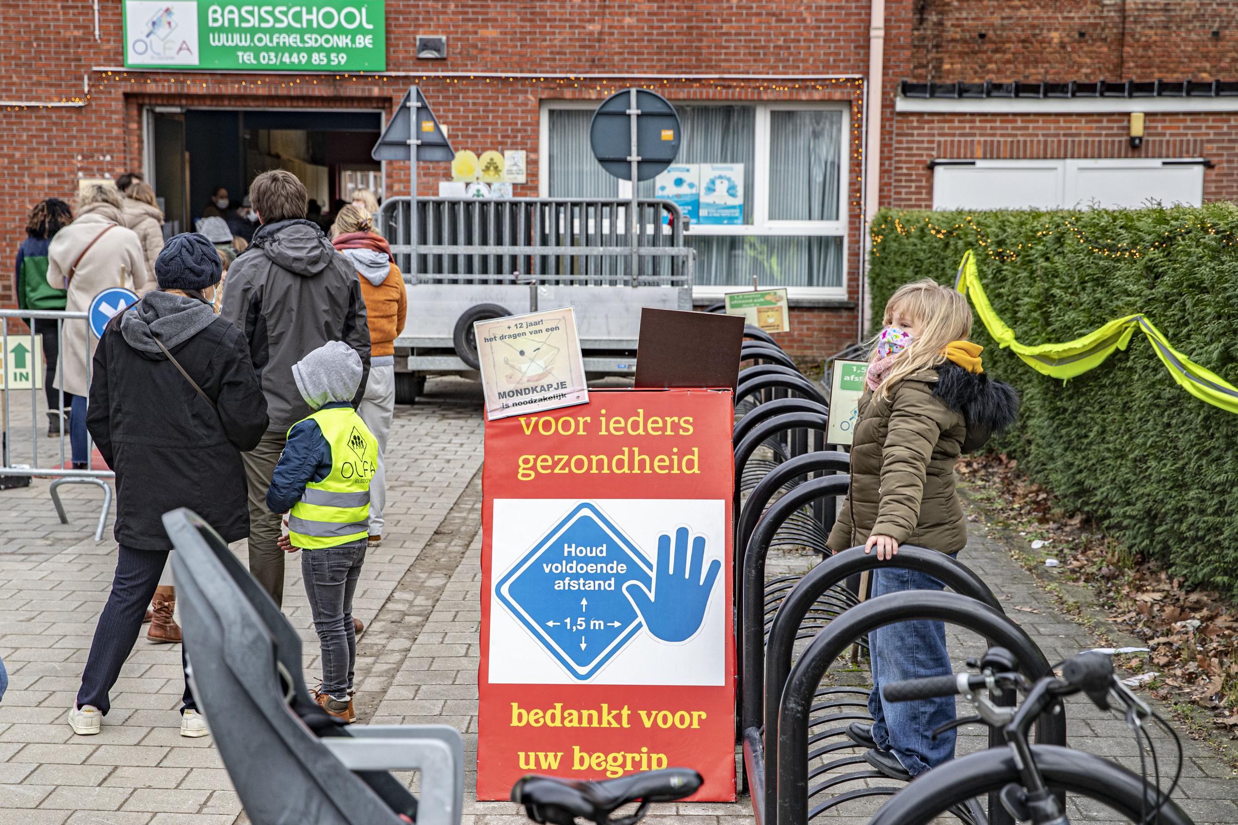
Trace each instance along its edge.
<instances>
[{"instance_id":1,"label":"upper right curtained window pane nearest the drainpipe","mask_svg":"<svg viewBox=\"0 0 1238 825\"><path fill-rule=\"evenodd\" d=\"M838 220L843 113L770 113L770 220Z\"/></svg>"}]
</instances>

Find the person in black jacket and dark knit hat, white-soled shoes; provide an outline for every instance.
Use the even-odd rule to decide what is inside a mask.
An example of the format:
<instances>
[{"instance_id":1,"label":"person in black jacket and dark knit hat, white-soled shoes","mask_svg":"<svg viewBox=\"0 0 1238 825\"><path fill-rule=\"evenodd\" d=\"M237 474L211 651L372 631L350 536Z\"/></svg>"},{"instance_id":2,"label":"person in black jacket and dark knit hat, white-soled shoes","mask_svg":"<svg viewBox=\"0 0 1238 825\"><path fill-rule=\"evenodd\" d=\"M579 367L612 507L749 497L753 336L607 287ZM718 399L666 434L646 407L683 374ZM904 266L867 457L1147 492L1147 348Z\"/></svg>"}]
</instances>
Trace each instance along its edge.
<instances>
[{"instance_id":1,"label":"person in black jacket and dark knit hat, white-soled shoes","mask_svg":"<svg viewBox=\"0 0 1238 825\"><path fill-rule=\"evenodd\" d=\"M212 308L220 271L203 235L172 237L155 263L158 291L118 313L95 350L87 427L116 472L120 557L69 711L78 735L99 732L167 563L160 517L189 507L224 541L249 536L240 453L266 432L266 400L245 336ZM206 733L186 682L181 735Z\"/></svg>"}]
</instances>

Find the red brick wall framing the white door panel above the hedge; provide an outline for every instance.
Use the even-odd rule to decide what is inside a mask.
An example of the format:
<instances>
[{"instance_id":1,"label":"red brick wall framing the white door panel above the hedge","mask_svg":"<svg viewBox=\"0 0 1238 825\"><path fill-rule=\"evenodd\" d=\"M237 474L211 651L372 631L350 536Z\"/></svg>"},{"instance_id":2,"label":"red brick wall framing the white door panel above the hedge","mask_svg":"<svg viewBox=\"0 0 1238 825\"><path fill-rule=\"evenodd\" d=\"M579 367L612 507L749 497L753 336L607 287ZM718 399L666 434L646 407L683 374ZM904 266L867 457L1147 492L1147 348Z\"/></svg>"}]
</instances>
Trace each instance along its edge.
<instances>
[{"instance_id":1,"label":"red brick wall framing the white door panel above the hedge","mask_svg":"<svg viewBox=\"0 0 1238 825\"><path fill-rule=\"evenodd\" d=\"M899 113L893 126L889 205L932 208L935 158L1205 157L1205 200L1238 200L1238 111L1150 113L1143 148L1127 139L1129 118Z\"/></svg>"}]
</instances>

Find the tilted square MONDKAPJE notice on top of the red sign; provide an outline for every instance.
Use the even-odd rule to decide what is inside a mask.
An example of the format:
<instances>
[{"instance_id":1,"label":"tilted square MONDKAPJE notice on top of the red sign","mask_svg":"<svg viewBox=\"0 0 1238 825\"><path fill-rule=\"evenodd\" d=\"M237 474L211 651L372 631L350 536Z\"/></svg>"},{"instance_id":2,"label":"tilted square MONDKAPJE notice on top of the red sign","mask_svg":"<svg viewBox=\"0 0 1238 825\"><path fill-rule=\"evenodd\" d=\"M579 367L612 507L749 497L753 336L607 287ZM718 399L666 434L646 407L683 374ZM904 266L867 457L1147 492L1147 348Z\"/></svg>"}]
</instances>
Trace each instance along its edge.
<instances>
[{"instance_id":1,"label":"tilted square MONDKAPJE notice on top of the red sign","mask_svg":"<svg viewBox=\"0 0 1238 825\"><path fill-rule=\"evenodd\" d=\"M473 334L489 421L588 403L571 307L479 320Z\"/></svg>"}]
</instances>

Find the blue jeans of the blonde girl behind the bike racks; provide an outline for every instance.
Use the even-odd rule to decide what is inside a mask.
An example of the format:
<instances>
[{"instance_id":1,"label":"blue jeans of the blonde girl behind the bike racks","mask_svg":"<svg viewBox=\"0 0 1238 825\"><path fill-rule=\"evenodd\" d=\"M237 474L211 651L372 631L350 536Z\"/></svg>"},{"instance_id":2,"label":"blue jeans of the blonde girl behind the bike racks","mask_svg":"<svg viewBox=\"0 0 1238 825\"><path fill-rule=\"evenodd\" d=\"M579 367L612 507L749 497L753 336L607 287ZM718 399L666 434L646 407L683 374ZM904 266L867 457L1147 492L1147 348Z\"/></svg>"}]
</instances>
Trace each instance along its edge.
<instances>
[{"instance_id":1,"label":"blue jeans of the blonde girl behind the bike racks","mask_svg":"<svg viewBox=\"0 0 1238 825\"><path fill-rule=\"evenodd\" d=\"M906 590L945 590L945 585L925 573L896 565L873 573L873 597ZM946 625L937 621L910 621L888 625L868 635L873 663L873 691L868 712L873 716L873 740L881 751L890 751L907 773L916 777L954 758L954 731L932 738L940 725L954 720L954 698L885 703L881 685L901 679L940 677L952 673L946 651Z\"/></svg>"}]
</instances>

